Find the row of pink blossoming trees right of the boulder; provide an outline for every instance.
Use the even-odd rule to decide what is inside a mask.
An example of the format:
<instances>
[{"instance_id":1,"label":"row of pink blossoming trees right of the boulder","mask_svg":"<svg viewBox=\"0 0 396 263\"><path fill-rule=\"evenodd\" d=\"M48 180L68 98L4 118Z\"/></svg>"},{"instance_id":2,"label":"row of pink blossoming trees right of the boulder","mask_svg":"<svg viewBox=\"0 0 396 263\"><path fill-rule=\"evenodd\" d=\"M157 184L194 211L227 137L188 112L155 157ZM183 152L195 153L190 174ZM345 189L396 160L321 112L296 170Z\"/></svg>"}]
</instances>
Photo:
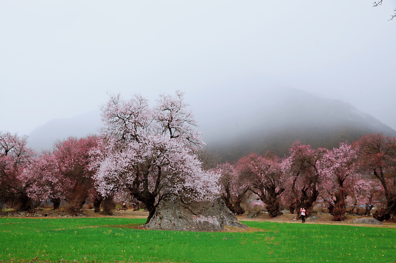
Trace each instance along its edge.
<instances>
[{"instance_id":1,"label":"row of pink blossoming trees right of the boulder","mask_svg":"<svg viewBox=\"0 0 396 263\"><path fill-rule=\"evenodd\" d=\"M222 197L229 207L238 207L253 196L263 201L272 217L281 213L281 205L290 212L305 207L310 215L314 202L321 198L335 221L344 220L346 212L360 206L367 215L376 207L373 217L378 220L395 221L395 167L396 139L371 134L331 150L296 142L284 158L251 154L233 165L219 165L215 171L221 174ZM232 186L243 191L230 191ZM243 210L232 211L240 214Z\"/></svg>"}]
</instances>

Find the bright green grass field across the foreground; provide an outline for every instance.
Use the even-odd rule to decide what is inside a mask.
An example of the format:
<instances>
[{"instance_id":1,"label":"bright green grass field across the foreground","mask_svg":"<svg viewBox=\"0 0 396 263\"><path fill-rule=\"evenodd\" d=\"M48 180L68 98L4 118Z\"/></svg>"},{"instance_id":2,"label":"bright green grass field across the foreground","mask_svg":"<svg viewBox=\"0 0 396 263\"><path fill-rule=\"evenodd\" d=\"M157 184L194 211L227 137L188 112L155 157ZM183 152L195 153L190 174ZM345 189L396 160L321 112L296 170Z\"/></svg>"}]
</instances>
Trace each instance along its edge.
<instances>
[{"instance_id":1,"label":"bright green grass field across the foreground","mask_svg":"<svg viewBox=\"0 0 396 263\"><path fill-rule=\"evenodd\" d=\"M133 229L145 219L0 218L0 261L394 262L396 229L244 222L255 231ZM258 231L259 230L259 231Z\"/></svg>"}]
</instances>

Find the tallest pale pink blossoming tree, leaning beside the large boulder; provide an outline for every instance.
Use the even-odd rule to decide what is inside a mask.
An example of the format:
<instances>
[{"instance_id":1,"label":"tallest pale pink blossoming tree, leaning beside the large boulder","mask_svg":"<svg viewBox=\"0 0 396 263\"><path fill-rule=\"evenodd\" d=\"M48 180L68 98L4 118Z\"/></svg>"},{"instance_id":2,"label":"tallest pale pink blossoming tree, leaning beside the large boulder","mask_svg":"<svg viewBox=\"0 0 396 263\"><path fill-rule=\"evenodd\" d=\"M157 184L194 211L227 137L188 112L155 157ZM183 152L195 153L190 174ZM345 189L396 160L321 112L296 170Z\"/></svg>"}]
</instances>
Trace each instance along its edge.
<instances>
[{"instance_id":1,"label":"tallest pale pink blossoming tree, leaning beside the large boulder","mask_svg":"<svg viewBox=\"0 0 396 263\"><path fill-rule=\"evenodd\" d=\"M91 151L97 189L103 196L128 189L150 212L147 222L166 195L219 195L219 175L204 171L195 154L204 142L183 95L160 95L150 107L141 95L112 94L101 107L102 139Z\"/></svg>"}]
</instances>

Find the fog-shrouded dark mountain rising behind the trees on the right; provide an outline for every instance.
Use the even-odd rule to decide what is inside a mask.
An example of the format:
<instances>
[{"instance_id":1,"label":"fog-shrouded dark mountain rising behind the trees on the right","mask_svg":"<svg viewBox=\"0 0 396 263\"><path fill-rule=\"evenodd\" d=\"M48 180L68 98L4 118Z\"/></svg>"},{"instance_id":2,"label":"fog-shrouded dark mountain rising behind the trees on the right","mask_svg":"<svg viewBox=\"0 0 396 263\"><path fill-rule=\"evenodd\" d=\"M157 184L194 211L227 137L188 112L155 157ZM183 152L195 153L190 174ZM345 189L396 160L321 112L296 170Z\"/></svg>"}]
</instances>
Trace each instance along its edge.
<instances>
[{"instance_id":1,"label":"fog-shrouded dark mountain rising behind the trees on the right","mask_svg":"<svg viewBox=\"0 0 396 263\"><path fill-rule=\"evenodd\" d=\"M234 162L251 152L271 151L283 156L297 140L314 148L333 148L367 133L396 136L389 126L340 100L295 89L280 89L259 97L252 102L254 110L229 108L227 112L217 111L217 125L201 122L204 140L221 161Z\"/></svg>"}]
</instances>

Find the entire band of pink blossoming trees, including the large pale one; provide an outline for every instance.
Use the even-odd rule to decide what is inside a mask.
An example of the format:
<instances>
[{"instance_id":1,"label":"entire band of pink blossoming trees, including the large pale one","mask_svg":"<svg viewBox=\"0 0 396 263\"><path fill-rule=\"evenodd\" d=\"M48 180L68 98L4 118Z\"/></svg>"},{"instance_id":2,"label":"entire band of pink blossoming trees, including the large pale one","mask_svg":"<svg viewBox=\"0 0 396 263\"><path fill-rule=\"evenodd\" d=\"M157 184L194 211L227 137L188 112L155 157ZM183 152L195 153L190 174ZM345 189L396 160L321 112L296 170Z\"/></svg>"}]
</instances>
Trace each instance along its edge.
<instances>
[{"instance_id":1,"label":"entire band of pink blossoming trees, including the large pale one","mask_svg":"<svg viewBox=\"0 0 396 263\"><path fill-rule=\"evenodd\" d=\"M110 94L100 135L69 137L41 154L26 147L26 136L0 132L1 205L24 210L51 200L57 209L65 200L77 214L87 200L97 212L102 201L133 199L149 211L148 222L169 195L221 197L234 214L253 199L271 217L300 207L309 216L320 198L337 221L358 207L367 215L375 207L378 220L396 220L396 138L369 134L333 149L297 141L287 156L252 153L213 167L183 95L163 94L150 106L139 94Z\"/></svg>"}]
</instances>

